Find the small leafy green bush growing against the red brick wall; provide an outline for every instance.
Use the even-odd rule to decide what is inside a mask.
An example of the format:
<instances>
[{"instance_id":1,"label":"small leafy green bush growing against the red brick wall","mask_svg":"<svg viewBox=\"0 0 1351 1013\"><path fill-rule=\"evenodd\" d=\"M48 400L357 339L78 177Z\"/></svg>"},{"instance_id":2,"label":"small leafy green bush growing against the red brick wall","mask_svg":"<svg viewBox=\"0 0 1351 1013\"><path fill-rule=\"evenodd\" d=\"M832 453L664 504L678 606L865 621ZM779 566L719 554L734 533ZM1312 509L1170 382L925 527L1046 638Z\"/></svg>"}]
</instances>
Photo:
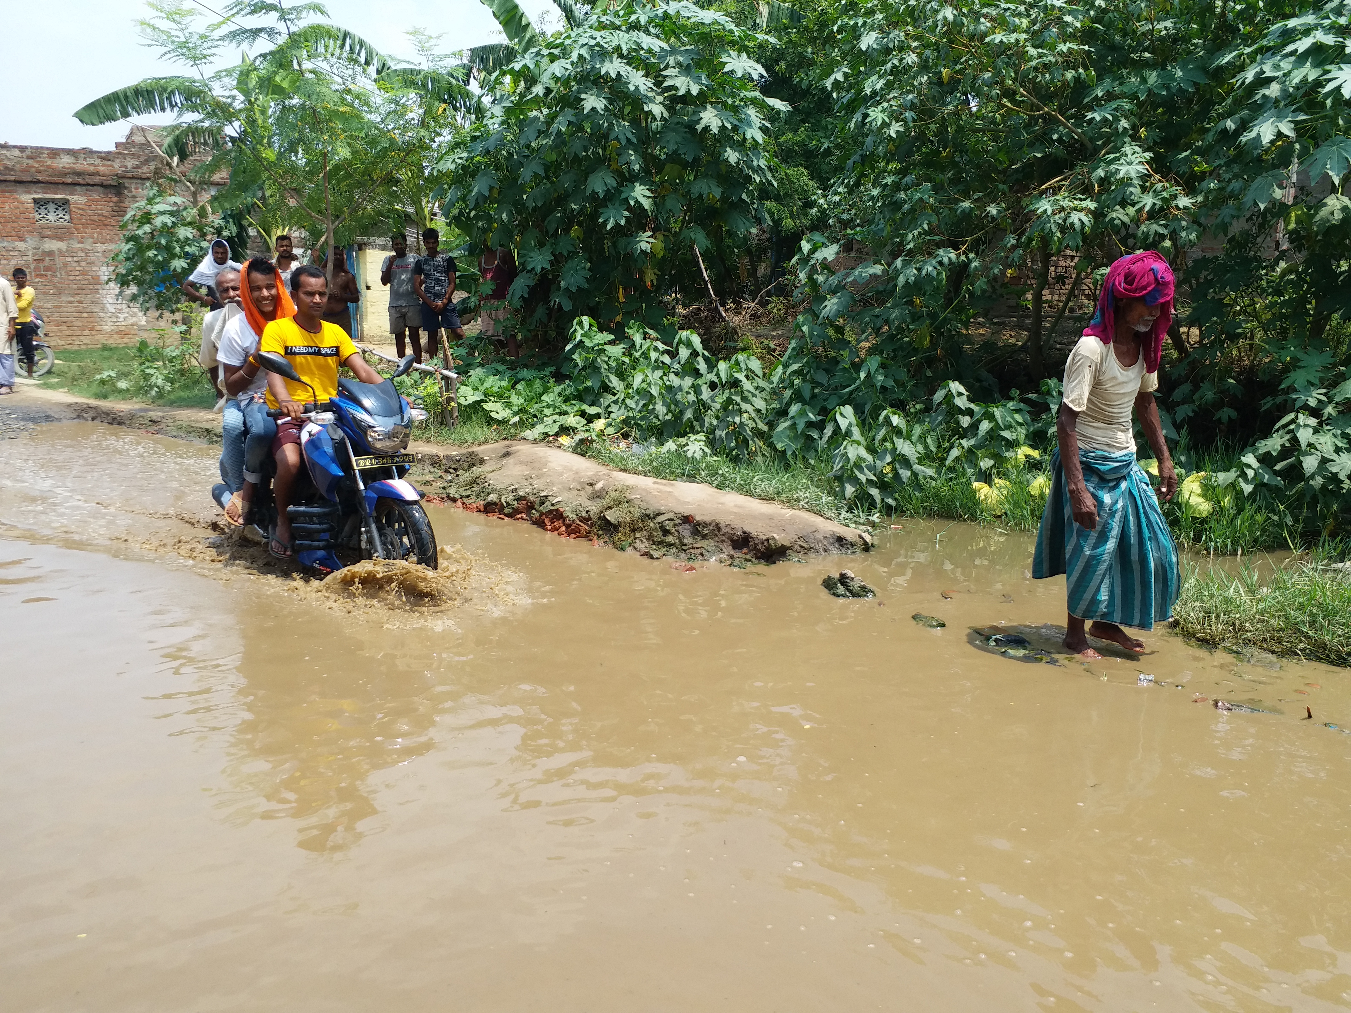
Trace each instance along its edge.
<instances>
[{"instance_id":1,"label":"small leafy green bush growing against the red brick wall","mask_svg":"<svg viewBox=\"0 0 1351 1013\"><path fill-rule=\"evenodd\" d=\"M219 220L177 196L172 181L161 177L122 220L122 243L109 258L111 281L146 312L169 313L182 303L180 282L216 235Z\"/></svg>"}]
</instances>

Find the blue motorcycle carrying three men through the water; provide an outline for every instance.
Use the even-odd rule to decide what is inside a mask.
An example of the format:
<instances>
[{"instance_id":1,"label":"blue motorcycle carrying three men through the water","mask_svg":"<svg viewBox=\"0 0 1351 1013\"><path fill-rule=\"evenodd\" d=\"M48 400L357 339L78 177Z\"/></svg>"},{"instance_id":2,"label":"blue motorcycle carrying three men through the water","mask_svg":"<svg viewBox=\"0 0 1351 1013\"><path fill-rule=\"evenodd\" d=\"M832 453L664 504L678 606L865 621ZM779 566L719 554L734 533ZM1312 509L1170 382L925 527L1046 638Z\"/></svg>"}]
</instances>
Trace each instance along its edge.
<instances>
[{"instance_id":1,"label":"blue motorcycle carrying three men through the water","mask_svg":"<svg viewBox=\"0 0 1351 1013\"><path fill-rule=\"evenodd\" d=\"M258 353L258 361L269 373L304 384L284 357ZM300 455L305 466L300 469L293 504L286 511L296 561L301 566L332 573L342 569L347 558L350 562L405 559L436 569L436 535L422 506L422 493L404 478L416 461L404 452L412 423L420 421L419 415L427 417L393 385L393 380L412 365L413 357L404 357L393 375L381 384L343 377L331 401L319 404L316 397L305 404L305 425L300 432ZM277 419L284 412L274 409L267 415ZM277 524L272 493L274 475L276 462L269 455L251 519L263 538L270 538ZM216 485L212 498L223 508L230 490Z\"/></svg>"}]
</instances>

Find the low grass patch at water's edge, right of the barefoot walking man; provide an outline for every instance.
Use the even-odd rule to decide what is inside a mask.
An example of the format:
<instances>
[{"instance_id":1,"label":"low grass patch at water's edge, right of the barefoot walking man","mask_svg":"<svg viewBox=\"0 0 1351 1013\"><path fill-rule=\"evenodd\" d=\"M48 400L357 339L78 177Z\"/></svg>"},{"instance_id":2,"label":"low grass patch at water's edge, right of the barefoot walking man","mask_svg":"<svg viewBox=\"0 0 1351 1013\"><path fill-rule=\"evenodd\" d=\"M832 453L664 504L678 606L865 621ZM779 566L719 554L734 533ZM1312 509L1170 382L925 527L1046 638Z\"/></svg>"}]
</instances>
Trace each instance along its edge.
<instances>
[{"instance_id":1,"label":"low grass patch at water's edge, right of the barefoot walking man","mask_svg":"<svg viewBox=\"0 0 1351 1013\"><path fill-rule=\"evenodd\" d=\"M1193 570L1173 615L1205 644L1351 666L1351 573L1336 565L1297 562L1267 578Z\"/></svg>"}]
</instances>

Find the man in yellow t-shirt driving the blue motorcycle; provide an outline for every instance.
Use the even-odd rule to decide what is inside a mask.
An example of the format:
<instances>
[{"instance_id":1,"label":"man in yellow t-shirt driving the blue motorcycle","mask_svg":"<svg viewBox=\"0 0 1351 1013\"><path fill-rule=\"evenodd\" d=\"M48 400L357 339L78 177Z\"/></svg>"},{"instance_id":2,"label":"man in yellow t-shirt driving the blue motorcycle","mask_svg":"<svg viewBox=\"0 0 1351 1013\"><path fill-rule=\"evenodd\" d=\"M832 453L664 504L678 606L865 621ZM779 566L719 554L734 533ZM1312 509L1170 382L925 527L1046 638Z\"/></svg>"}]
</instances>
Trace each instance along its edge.
<instances>
[{"instance_id":1,"label":"man in yellow t-shirt driving the blue motorcycle","mask_svg":"<svg viewBox=\"0 0 1351 1013\"><path fill-rule=\"evenodd\" d=\"M296 384L276 373L267 374L267 407L286 413L277 420L277 436L272 442L272 454L277 459L277 478L272 486L277 500L277 529L267 551L278 559L292 555L286 508L290 506L290 493L300 473L300 430L304 427L300 416L305 411L305 402L311 398L327 401L338 393L339 366L350 369L362 384L384 381L361 358L346 331L336 324L324 323L328 280L319 267L296 267L290 276L290 294L296 301L296 315L273 320L262 330L262 339L258 342L258 351L284 355L305 381Z\"/></svg>"}]
</instances>

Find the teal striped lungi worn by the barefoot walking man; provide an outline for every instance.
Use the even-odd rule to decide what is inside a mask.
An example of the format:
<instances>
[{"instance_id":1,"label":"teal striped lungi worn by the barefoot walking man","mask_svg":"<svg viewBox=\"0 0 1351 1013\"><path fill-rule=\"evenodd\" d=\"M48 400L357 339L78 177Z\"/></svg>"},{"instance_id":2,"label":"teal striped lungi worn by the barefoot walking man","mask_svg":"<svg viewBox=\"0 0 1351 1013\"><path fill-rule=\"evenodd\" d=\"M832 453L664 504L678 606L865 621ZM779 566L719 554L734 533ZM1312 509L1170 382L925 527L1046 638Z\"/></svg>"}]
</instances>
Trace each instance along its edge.
<instances>
[{"instance_id":1,"label":"teal striped lungi worn by the barefoot walking man","mask_svg":"<svg viewBox=\"0 0 1351 1013\"><path fill-rule=\"evenodd\" d=\"M1154 629L1155 623L1173 617L1181 579L1177 544L1150 479L1133 451L1081 450L1079 463L1097 502L1097 528L1074 523L1056 450L1032 577L1063 573L1071 616Z\"/></svg>"}]
</instances>

